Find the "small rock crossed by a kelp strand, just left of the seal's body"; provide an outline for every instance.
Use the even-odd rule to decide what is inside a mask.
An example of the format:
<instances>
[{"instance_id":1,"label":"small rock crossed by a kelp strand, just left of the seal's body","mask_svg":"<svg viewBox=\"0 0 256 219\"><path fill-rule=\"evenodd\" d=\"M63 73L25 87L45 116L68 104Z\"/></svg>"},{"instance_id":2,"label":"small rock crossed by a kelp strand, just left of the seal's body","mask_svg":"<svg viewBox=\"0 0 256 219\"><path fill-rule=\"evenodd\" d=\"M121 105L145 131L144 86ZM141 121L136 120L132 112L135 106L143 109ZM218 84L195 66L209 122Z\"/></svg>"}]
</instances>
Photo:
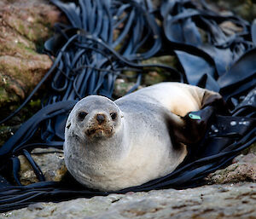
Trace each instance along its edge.
<instances>
[{"instance_id":1,"label":"small rock crossed by a kelp strand, just left of the seal's body","mask_svg":"<svg viewBox=\"0 0 256 219\"><path fill-rule=\"evenodd\" d=\"M21 184L28 185L38 182L38 178L25 156L20 155L18 158L20 159L19 175ZM46 181L60 182L67 172L62 150L55 148L36 148L32 150L32 158L44 173Z\"/></svg>"}]
</instances>

